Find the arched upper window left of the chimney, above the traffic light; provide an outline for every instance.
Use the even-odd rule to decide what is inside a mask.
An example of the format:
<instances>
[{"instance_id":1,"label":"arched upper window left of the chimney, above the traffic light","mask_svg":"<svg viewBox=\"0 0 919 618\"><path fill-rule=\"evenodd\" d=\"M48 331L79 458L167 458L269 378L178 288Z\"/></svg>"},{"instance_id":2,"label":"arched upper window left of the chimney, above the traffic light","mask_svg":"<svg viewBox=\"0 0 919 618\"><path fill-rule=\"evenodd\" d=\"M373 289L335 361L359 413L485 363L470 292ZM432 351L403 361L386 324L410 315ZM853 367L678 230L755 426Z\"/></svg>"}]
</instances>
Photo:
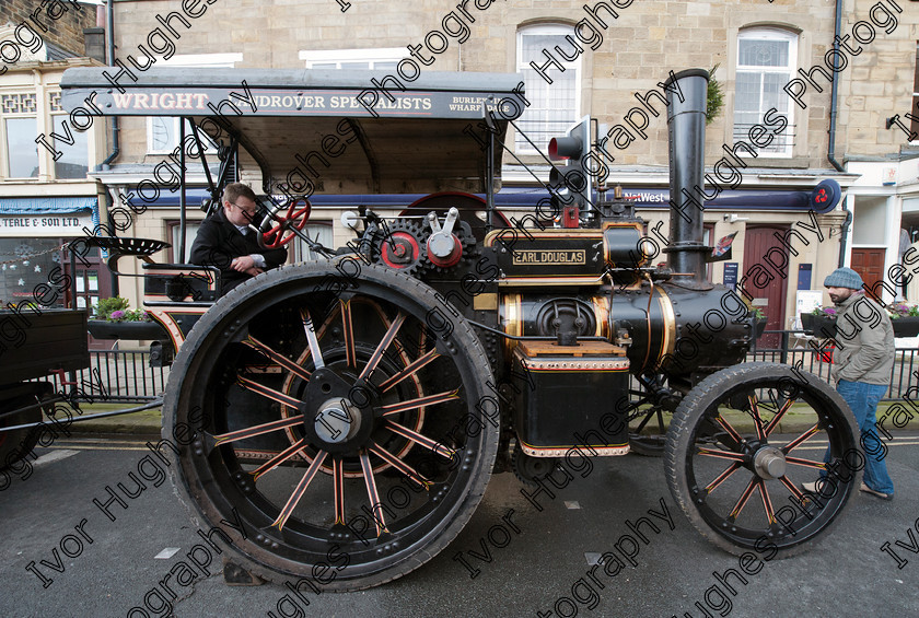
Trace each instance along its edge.
<instances>
[{"instance_id":1,"label":"arched upper window left of the chimney, above the traffic light","mask_svg":"<svg viewBox=\"0 0 919 618\"><path fill-rule=\"evenodd\" d=\"M565 36L572 36L571 26L538 25L521 28L517 32L516 71L523 73L526 98L530 106L516 120L516 125L545 152L549 140L556 136L563 136L568 128L580 118L581 101L581 56L571 62L565 61L555 50L572 51L571 44ZM559 63L565 67L560 71L555 67L546 70L552 83L533 68L546 63L543 50L548 50ZM537 150L517 131L514 149L517 154L536 154Z\"/></svg>"}]
</instances>

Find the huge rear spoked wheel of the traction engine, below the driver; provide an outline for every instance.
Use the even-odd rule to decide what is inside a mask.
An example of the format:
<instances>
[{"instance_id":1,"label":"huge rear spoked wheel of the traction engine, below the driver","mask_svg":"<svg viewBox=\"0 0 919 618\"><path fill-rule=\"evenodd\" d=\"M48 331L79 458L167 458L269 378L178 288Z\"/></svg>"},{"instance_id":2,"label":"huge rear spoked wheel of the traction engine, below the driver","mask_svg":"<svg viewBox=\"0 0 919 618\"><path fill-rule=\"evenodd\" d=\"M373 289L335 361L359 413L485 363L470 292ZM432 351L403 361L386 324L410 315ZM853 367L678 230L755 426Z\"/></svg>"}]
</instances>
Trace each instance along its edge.
<instances>
[{"instance_id":1,"label":"huge rear spoked wheel of the traction engine, below the driver","mask_svg":"<svg viewBox=\"0 0 919 618\"><path fill-rule=\"evenodd\" d=\"M177 485L208 525L243 522L245 539L224 529L261 576L386 582L481 499L491 380L470 327L415 279L350 258L270 271L221 299L176 358L166 432L197 430Z\"/></svg>"}]
</instances>

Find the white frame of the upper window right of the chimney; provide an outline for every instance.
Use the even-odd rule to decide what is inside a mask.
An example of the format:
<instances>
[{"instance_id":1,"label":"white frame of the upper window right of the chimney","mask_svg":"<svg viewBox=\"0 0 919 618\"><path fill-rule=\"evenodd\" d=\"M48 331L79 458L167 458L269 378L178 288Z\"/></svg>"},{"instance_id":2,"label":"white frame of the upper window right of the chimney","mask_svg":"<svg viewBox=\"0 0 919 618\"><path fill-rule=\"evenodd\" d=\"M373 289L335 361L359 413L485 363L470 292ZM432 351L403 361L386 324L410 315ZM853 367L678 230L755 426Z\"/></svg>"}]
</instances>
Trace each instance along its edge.
<instances>
[{"instance_id":1,"label":"white frame of the upper window right of the chimney","mask_svg":"<svg viewBox=\"0 0 919 618\"><path fill-rule=\"evenodd\" d=\"M788 42L788 65L786 67L764 67L758 65L741 65L741 42L742 40L781 40ZM736 114L737 114L737 75L743 72L752 72L752 73L759 73L760 75L765 73L772 73L772 74L781 74L787 77L784 83L788 83L788 80L791 80L795 71L798 70L798 57L799 57L799 46L801 44L801 37L796 32L790 30L783 30L780 27L768 27L768 26L755 26L755 27L747 27L743 28L737 33L737 42L735 46L735 61L734 61L734 107L732 109L732 121L731 121L731 136L733 143L738 141L737 138L737 123L736 123ZM780 96L788 96L787 94L782 93ZM764 96L764 88L763 83L760 82L759 86L759 114L765 114L767 109L765 109L765 105L763 103ZM765 149L757 149L757 154L764 159L791 159L794 156L794 148L796 145L795 140L795 132L794 132L794 103L789 98L788 101L788 113L786 114L786 119L788 120L788 127L786 128L786 133L788 143L784 147L784 152L772 152L767 151ZM761 120L760 120L761 121ZM779 135L776 133L778 138ZM746 141L744 139L744 141ZM769 148L773 148L775 144L770 144Z\"/></svg>"}]
</instances>

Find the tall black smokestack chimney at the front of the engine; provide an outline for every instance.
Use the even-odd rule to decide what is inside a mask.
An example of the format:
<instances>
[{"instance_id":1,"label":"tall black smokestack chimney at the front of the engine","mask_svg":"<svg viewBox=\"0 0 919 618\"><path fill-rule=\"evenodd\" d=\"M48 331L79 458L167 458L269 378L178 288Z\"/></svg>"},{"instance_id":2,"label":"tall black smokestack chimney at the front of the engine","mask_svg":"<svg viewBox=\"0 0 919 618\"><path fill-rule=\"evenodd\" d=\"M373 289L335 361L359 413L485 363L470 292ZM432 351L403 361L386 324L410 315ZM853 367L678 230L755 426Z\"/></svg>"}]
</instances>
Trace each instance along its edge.
<instances>
[{"instance_id":1,"label":"tall black smokestack chimney at the front of the engine","mask_svg":"<svg viewBox=\"0 0 919 618\"><path fill-rule=\"evenodd\" d=\"M702 176L706 152L706 106L709 73L688 69L664 83L667 94L670 143L671 244L667 264L677 273L674 281L699 290L711 289L706 280L702 243Z\"/></svg>"}]
</instances>

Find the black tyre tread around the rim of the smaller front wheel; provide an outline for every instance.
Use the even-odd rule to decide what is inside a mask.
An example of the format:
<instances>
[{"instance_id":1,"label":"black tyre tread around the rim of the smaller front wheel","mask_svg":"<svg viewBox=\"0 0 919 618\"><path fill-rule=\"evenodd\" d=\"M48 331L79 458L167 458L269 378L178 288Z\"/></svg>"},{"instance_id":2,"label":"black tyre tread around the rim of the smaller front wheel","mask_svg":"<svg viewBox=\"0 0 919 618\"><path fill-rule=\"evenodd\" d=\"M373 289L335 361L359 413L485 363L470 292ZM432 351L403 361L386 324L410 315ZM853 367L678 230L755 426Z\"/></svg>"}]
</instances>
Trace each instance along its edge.
<instances>
[{"instance_id":1,"label":"black tyre tread around the rim of the smaller front wheel","mask_svg":"<svg viewBox=\"0 0 919 618\"><path fill-rule=\"evenodd\" d=\"M664 473L667 480L667 487L670 487L671 494L673 495L674 501L679 505L680 510L686 514L686 517L689 520L689 523L693 524L693 527L695 527L699 532L699 534L701 534L713 545L735 556L740 556L745 551L749 551L749 549L738 547L725 539L724 537L713 533L709 525L698 514L696 509L693 508L689 503L690 499L688 494L688 488L683 486L677 474L686 459L686 447L688 446L688 444L685 441L680 441L680 438L688 436L691 433L693 428L697 421L699 410L703 409L707 406L708 401L711 401L712 396L717 395L724 387L732 385L731 383L736 381L737 378L746 377L752 373L758 373L764 370L770 370L772 372L783 372L793 375L791 374L791 370L788 365L767 362L742 363L709 375L699 384L697 384L677 406L676 411L673 413L673 419L671 420L670 431L667 432L666 446L664 447ZM824 382L816 375L814 375L813 377L815 381ZM835 390L833 390L828 384L826 384L826 388L835 394ZM839 396L837 395L837 397ZM841 397L839 397L839 400L842 401ZM841 409L844 415L846 416L846 419L849 423L849 429L852 432L852 434L854 436L860 435L859 427L856 423L854 416L849 409L849 406L845 404L845 401L842 401ZM858 438L856 440L856 443L858 443ZM856 474L856 478L852 481L852 486L857 487L860 482L860 479L861 471ZM812 539L807 543L796 545L791 548L779 549L775 558L790 558L792 556L796 556L804 551L811 550L813 547L818 545L824 538L827 537L829 530L831 530L839 523L839 516L835 517L827 526L825 526L821 530L821 534L816 539Z\"/></svg>"}]
</instances>

